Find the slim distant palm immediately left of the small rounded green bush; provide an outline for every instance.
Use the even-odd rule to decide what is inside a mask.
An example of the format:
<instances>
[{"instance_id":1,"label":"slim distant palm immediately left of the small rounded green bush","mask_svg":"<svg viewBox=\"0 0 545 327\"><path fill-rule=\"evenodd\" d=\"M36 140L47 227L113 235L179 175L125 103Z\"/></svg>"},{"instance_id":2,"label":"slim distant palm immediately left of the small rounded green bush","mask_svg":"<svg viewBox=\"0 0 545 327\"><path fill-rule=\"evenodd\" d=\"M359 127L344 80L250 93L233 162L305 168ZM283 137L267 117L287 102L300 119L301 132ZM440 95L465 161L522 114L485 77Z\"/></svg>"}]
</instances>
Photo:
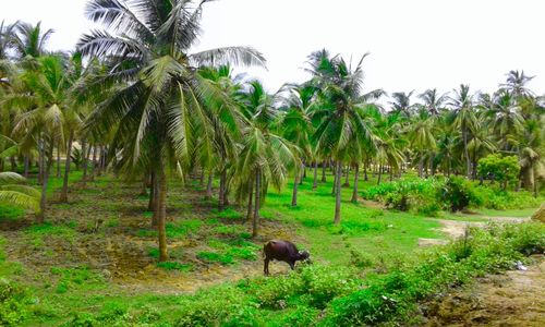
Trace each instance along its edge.
<instances>
[{"instance_id":1,"label":"slim distant palm immediately left of the small rounded green bush","mask_svg":"<svg viewBox=\"0 0 545 327\"><path fill-rule=\"evenodd\" d=\"M474 111L473 95L470 94L470 86L461 84L460 89L453 90L455 96L450 97L450 105L453 107L455 125L460 129L463 142L463 156L465 158L467 177L471 177L471 158L468 150L470 133L475 130L476 116Z\"/></svg>"}]
</instances>

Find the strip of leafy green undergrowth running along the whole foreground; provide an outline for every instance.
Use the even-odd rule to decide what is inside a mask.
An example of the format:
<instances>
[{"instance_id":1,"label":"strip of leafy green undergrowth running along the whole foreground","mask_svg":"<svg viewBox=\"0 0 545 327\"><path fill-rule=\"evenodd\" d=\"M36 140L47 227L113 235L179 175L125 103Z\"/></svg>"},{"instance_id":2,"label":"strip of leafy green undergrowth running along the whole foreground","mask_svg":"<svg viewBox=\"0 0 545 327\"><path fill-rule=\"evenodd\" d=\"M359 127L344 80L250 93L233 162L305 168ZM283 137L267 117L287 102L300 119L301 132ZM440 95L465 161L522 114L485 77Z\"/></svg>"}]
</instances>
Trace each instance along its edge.
<instances>
[{"instance_id":1,"label":"strip of leafy green undergrowth running along the whole foreground","mask_svg":"<svg viewBox=\"0 0 545 327\"><path fill-rule=\"evenodd\" d=\"M476 277L513 268L545 251L543 223L488 225L412 259L371 269L311 265L286 276L247 278L193 295L95 294L59 307L51 299L1 283L5 325L57 322L64 326L360 326L417 323L419 302ZM99 282L85 267L59 269L59 284L88 291ZM10 284L10 287L5 287ZM58 294L57 296L64 295ZM34 299L34 300L33 300ZM75 300L75 299L71 299ZM21 313L12 318L10 307ZM2 311L3 310L3 311ZM65 310L65 311L63 311ZM12 320L9 320L12 319ZM10 323L11 322L11 323Z\"/></svg>"}]
</instances>

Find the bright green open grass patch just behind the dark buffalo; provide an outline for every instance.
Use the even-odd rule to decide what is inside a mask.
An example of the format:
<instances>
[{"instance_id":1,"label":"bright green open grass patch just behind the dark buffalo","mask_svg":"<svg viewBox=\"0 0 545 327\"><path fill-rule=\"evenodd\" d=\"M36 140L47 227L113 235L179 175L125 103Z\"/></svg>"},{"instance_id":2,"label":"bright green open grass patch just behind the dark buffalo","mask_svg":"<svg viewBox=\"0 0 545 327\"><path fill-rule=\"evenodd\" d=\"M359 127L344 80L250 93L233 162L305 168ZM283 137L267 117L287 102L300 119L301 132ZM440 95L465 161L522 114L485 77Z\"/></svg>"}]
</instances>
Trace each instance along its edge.
<instances>
[{"instance_id":1,"label":"bright green open grass patch just behind the dark buffalo","mask_svg":"<svg viewBox=\"0 0 545 327\"><path fill-rule=\"evenodd\" d=\"M335 197L331 196L332 179L312 191L312 180L306 179L299 187L298 206L291 207L291 187L280 193L271 192L263 211L269 219L278 219L296 227L296 233L307 241L314 258L330 264L348 264L350 252L347 244L372 255L390 252L412 253L419 238L440 238L434 231L440 226L436 220L408 213L368 208L350 202L352 189L342 189L341 226L334 225ZM360 182L360 190L372 182Z\"/></svg>"}]
</instances>

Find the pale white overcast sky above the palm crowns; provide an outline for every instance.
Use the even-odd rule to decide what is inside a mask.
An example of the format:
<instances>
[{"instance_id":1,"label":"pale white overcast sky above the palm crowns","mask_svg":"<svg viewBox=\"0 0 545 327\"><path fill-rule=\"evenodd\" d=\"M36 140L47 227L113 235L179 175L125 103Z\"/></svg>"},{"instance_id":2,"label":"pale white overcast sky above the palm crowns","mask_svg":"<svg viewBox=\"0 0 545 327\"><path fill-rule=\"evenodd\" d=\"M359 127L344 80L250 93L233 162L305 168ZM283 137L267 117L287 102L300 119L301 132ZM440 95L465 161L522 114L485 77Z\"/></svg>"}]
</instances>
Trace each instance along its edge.
<instances>
[{"instance_id":1,"label":"pale white overcast sky above the palm crowns","mask_svg":"<svg viewBox=\"0 0 545 327\"><path fill-rule=\"evenodd\" d=\"M0 0L0 20L53 28L51 50L70 50L94 27L86 0ZM207 3L195 51L252 46L267 70L238 69L269 92L308 78L306 57L326 48L364 60L365 89L449 92L461 83L494 92L510 70L524 70L545 94L543 0L220 0Z\"/></svg>"}]
</instances>

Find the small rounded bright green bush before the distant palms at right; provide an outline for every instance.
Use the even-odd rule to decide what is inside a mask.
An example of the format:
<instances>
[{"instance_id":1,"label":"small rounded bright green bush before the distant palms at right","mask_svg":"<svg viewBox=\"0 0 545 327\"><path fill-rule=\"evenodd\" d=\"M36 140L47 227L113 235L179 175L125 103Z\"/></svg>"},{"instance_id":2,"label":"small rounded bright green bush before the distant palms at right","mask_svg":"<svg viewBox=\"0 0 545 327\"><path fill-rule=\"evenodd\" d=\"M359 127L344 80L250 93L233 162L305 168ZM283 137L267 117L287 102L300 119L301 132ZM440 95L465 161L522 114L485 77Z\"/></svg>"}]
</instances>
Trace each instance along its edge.
<instances>
[{"instance_id":1,"label":"small rounded bright green bush before the distant palms at right","mask_svg":"<svg viewBox=\"0 0 545 327\"><path fill-rule=\"evenodd\" d=\"M483 179L501 182L505 189L507 183L516 182L519 178L519 159L516 156L488 155L479 160L477 171Z\"/></svg>"}]
</instances>

